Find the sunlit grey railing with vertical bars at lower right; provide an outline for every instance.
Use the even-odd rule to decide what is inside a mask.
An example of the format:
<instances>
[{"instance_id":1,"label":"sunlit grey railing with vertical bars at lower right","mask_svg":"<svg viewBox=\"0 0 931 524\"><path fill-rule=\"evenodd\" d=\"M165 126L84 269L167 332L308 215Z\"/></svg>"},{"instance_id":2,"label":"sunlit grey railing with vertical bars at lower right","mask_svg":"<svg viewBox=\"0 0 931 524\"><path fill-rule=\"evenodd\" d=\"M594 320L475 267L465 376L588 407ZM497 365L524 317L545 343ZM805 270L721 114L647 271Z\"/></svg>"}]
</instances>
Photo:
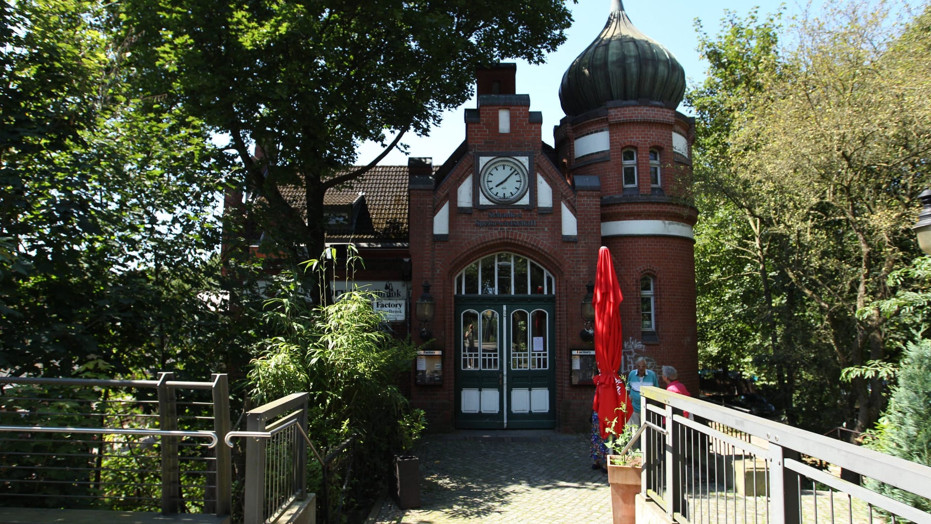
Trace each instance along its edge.
<instances>
[{"instance_id":1,"label":"sunlit grey railing with vertical bars at lower right","mask_svg":"<svg viewBox=\"0 0 931 524\"><path fill-rule=\"evenodd\" d=\"M931 523L880 492L926 502L931 467L658 388L641 393L641 492L669 521Z\"/></svg>"}]
</instances>

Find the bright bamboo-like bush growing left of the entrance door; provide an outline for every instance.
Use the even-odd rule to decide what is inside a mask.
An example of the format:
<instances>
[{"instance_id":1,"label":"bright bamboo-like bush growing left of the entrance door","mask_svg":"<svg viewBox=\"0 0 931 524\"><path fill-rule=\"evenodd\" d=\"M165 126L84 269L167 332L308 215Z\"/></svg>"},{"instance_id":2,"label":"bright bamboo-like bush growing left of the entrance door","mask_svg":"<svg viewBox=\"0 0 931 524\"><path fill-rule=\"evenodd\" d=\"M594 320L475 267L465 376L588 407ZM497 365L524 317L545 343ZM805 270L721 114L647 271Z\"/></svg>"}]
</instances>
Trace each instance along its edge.
<instances>
[{"instance_id":1,"label":"bright bamboo-like bush growing left of the entrance door","mask_svg":"<svg viewBox=\"0 0 931 524\"><path fill-rule=\"evenodd\" d=\"M329 269L321 260L306 266L323 278ZM350 256L347 273L355 263ZM350 485L377 488L372 480L387 476L393 454L412 448L425 428L424 412L411 410L396 385L410 372L416 348L382 329L383 318L372 308L374 294L353 289L331 305L312 306L304 282L284 271L267 290L273 297L263 320L274 335L253 348L250 395L262 403L310 393L308 435L317 449L326 454L357 435L354 461L366 464L366 482L355 486L352 479ZM343 472L334 470L331 484L318 487L332 492L331 505L342 496Z\"/></svg>"}]
</instances>

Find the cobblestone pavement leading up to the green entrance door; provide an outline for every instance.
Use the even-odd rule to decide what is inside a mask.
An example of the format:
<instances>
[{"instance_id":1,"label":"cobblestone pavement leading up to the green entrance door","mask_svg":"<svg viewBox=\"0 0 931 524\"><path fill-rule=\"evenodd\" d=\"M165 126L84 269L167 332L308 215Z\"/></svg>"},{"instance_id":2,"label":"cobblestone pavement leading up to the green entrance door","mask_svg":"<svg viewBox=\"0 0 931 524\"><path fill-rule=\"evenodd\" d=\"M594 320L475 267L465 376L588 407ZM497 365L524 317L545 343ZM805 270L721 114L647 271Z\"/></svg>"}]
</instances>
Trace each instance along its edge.
<instances>
[{"instance_id":1,"label":"cobblestone pavement leading up to the green entrance door","mask_svg":"<svg viewBox=\"0 0 931 524\"><path fill-rule=\"evenodd\" d=\"M608 478L590 467L587 434L431 434L415 454L421 507L400 510L386 497L369 524L611 522Z\"/></svg>"}]
</instances>

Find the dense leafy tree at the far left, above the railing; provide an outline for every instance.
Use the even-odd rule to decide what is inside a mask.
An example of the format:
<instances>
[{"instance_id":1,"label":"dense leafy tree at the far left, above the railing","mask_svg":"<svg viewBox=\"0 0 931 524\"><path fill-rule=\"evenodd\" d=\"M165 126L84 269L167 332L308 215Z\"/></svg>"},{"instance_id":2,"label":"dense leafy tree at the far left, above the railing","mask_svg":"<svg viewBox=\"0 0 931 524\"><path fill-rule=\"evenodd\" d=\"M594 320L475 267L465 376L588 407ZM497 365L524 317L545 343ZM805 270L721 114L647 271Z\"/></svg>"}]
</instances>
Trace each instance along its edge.
<instances>
[{"instance_id":1,"label":"dense leafy tree at the far left, above the railing","mask_svg":"<svg viewBox=\"0 0 931 524\"><path fill-rule=\"evenodd\" d=\"M175 327L210 314L171 288L216 285L196 268L219 239L221 164L199 122L128 91L132 42L111 38L105 13L2 10L0 368L14 374L191 365Z\"/></svg>"}]
</instances>

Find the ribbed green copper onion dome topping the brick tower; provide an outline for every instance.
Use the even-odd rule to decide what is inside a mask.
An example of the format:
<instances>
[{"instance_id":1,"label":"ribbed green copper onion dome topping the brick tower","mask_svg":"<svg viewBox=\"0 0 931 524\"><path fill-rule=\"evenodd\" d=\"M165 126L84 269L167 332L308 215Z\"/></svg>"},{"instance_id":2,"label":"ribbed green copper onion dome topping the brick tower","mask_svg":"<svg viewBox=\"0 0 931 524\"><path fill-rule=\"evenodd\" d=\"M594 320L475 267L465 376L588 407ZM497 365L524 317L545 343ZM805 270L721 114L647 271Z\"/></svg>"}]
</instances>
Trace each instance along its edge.
<instances>
[{"instance_id":1,"label":"ribbed green copper onion dome topping the brick tower","mask_svg":"<svg viewBox=\"0 0 931 524\"><path fill-rule=\"evenodd\" d=\"M610 101L659 102L675 109L685 93L676 57L634 27L621 0L612 0L608 22L562 75L560 103L576 116Z\"/></svg>"}]
</instances>

